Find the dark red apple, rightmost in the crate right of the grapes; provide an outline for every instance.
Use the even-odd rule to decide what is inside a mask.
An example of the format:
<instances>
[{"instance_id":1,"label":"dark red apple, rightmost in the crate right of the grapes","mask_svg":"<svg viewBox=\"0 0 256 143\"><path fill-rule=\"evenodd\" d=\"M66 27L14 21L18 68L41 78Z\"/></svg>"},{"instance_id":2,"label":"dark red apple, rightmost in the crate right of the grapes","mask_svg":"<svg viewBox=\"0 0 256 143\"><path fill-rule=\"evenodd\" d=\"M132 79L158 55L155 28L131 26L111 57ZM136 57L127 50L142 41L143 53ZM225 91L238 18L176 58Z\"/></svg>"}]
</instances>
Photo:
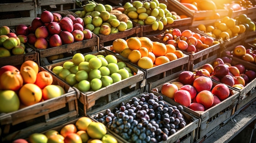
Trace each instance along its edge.
<instances>
[{"instance_id":1,"label":"dark red apple, rightmost in the crate right of the grapes","mask_svg":"<svg viewBox=\"0 0 256 143\"><path fill-rule=\"evenodd\" d=\"M211 90L213 95L216 95L221 101L229 97L229 87L226 84L217 84Z\"/></svg>"}]
</instances>

